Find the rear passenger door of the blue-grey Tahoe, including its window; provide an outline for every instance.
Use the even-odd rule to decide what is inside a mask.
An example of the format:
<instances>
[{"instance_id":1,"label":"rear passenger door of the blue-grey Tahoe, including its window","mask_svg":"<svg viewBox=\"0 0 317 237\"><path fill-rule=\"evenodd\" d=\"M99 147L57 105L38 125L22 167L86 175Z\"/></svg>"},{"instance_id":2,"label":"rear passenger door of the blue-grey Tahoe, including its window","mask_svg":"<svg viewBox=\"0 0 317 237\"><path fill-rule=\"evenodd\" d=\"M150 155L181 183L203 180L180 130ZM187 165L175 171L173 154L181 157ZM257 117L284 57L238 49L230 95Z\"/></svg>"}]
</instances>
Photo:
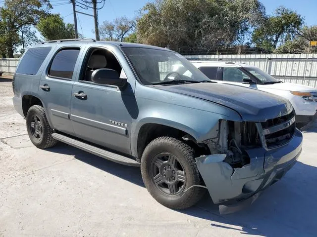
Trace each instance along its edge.
<instances>
[{"instance_id":1,"label":"rear passenger door of the blue-grey Tahoe, including its window","mask_svg":"<svg viewBox=\"0 0 317 237\"><path fill-rule=\"evenodd\" d=\"M40 81L39 96L51 125L68 134L74 134L70 121L70 102L74 79L79 74L77 68L82 51L82 44L59 48Z\"/></svg>"}]
</instances>

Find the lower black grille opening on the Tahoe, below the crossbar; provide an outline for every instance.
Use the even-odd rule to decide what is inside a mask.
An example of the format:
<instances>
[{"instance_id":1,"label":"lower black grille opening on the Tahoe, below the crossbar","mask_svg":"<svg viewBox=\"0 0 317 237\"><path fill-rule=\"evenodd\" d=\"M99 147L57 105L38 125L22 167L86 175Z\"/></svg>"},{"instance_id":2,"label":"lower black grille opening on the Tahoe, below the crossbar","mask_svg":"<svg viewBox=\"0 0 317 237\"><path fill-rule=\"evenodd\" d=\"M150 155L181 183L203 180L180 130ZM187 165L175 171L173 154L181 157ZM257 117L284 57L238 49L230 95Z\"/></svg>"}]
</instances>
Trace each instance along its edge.
<instances>
[{"instance_id":1,"label":"lower black grille opening on the Tahoe, below the crossbar","mask_svg":"<svg viewBox=\"0 0 317 237\"><path fill-rule=\"evenodd\" d=\"M289 126L286 129L265 135L267 148L273 148L287 143L293 137L295 129L296 126L294 122L291 126Z\"/></svg>"}]
</instances>

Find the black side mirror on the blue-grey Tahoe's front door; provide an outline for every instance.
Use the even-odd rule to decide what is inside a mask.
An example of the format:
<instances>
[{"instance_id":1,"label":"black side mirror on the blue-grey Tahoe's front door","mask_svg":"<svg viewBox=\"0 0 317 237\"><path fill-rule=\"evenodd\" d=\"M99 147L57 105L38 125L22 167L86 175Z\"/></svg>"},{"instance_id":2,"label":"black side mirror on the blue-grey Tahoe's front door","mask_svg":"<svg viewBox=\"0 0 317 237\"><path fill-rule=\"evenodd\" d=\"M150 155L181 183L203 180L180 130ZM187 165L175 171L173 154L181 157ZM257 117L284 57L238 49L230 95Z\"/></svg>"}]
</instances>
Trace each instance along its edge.
<instances>
[{"instance_id":1,"label":"black side mirror on the blue-grey Tahoe's front door","mask_svg":"<svg viewBox=\"0 0 317 237\"><path fill-rule=\"evenodd\" d=\"M119 77L117 71L108 68L96 69L91 75L91 80L98 84L116 85L120 88L128 83L127 79Z\"/></svg>"}]
</instances>

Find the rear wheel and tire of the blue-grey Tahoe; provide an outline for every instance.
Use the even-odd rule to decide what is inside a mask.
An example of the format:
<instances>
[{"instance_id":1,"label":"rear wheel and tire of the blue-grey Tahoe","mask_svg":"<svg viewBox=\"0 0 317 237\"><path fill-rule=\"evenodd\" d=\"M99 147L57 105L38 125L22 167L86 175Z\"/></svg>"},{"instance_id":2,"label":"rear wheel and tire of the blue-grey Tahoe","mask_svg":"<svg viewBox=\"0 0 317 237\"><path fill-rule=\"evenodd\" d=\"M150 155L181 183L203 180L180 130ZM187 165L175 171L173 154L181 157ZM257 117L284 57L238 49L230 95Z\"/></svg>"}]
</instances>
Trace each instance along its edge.
<instances>
[{"instance_id":1,"label":"rear wheel and tire of the blue-grey Tahoe","mask_svg":"<svg viewBox=\"0 0 317 237\"><path fill-rule=\"evenodd\" d=\"M46 118L44 108L33 105L26 115L26 128L31 142L40 149L53 147L57 141L52 137L53 129Z\"/></svg>"}]
</instances>

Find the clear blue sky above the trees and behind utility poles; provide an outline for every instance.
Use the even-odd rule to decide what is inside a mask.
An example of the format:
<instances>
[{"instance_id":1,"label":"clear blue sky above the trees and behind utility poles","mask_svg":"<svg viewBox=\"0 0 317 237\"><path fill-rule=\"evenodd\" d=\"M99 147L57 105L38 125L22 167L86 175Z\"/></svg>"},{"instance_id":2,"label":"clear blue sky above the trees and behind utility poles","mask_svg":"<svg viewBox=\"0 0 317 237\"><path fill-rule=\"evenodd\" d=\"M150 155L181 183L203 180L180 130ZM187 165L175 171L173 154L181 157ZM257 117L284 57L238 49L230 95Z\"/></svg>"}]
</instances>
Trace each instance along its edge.
<instances>
[{"instance_id":1,"label":"clear blue sky above the trees and behind utility poles","mask_svg":"<svg viewBox=\"0 0 317 237\"><path fill-rule=\"evenodd\" d=\"M119 16L134 17L137 11L142 8L149 0L106 0L105 7L99 10L99 24L103 21L111 21ZM268 14L272 13L274 9L280 5L287 8L292 8L305 17L307 25L317 25L317 0L261 0L266 8ZM0 2L3 2L2 0ZM67 23L73 23L74 18L72 14L72 5L67 3L69 0L51 0L53 4L53 13L59 13L64 17ZM65 3L65 4L63 4ZM2 3L0 3L2 5ZM55 6L54 6L55 5ZM82 10L77 7L77 10L88 14L93 14L91 9ZM92 32L94 29L94 21L90 16L77 14L78 32L87 38L95 38ZM39 35L40 36L40 35Z\"/></svg>"}]
</instances>

